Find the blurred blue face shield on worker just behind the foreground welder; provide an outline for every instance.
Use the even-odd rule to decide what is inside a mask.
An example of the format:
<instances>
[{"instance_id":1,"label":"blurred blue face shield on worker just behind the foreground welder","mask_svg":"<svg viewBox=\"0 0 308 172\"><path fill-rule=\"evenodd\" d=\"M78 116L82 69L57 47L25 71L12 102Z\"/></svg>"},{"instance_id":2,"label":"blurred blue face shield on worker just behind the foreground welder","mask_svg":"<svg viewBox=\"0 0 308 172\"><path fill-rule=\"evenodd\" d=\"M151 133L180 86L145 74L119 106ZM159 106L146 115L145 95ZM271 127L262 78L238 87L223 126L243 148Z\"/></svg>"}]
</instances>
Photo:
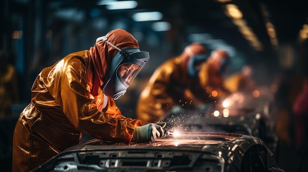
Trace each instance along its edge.
<instances>
[{"instance_id":1,"label":"blurred blue face shield on worker just behind the foreground welder","mask_svg":"<svg viewBox=\"0 0 308 172\"><path fill-rule=\"evenodd\" d=\"M207 59L207 56L205 54L200 54L200 55L194 55L189 59L188 66L187 66L187 71L189 76L195 77L198 75L201 64L205 62Z\"/></svg>"}]
</instances>

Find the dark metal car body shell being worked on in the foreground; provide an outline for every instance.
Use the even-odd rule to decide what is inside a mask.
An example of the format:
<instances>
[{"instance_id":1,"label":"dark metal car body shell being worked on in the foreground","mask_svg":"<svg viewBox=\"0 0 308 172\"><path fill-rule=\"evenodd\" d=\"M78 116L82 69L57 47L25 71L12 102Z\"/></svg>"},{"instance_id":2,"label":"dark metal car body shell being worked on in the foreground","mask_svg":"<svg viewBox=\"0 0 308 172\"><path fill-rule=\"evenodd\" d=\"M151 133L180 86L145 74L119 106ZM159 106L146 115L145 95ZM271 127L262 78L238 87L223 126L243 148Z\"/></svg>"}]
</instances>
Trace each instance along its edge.
<instances>
[{"instance_id":1,"label":"dark metal car body shell being worked on in the foreground","mask_svg":"<svg viewBox=\"0 0 308 172\"><path fill-rule=\"evenodd\" d=\"M150 143L93 139L70 147L33 172L283 172L256 137L180 132Z\"/></svg>"}]
</instances>

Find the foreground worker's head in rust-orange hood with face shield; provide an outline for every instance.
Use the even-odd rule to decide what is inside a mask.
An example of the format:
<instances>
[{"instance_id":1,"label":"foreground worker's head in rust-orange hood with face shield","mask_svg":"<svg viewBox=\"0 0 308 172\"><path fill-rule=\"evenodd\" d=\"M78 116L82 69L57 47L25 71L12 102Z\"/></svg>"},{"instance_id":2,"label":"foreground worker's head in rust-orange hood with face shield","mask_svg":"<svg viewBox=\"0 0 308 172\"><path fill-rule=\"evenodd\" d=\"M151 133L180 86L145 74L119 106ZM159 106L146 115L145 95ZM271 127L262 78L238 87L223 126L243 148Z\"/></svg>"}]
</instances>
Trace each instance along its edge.
<instances>
[{"instance_id":1,"label":"foreground worker's head in rust-orange hood with face shield","mask_svg":"<svg viewBox=\"0 0 308 172\"><path fill-rule=\"evenodd\" d=\"M131 81L150 58L149 52L140 51L137 40L122 29L97 38L91 55L98 76L96 79L99 79L96 83L99 83L106 96L114 99L124 95Z\"/></svg>"}]
</instances>

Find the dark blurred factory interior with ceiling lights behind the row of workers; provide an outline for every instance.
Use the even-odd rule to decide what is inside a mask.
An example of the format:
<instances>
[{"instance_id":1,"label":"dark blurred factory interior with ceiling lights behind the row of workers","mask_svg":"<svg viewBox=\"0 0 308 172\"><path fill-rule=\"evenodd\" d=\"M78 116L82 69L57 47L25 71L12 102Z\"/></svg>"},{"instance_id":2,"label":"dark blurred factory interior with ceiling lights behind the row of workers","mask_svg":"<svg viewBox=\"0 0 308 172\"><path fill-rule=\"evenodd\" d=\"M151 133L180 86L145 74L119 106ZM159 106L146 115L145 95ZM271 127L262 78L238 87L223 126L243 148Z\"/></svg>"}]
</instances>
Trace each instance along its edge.
<instances>
[{"instance_id":1,"label":"dark blurred factory interior with ceiling lights behind the row of workers","mask_svg":"<svg viewBox=\"0 0 308 172\"><path fill-rule=\"evenodd\" d=\"M273 106L267 120L277 135L279 167L306 172L308 101L302 104L306 112L301 120L292 107L308 93L307 7L305 0L2 0L0 51L14 66L16 80L9 88L0 80L0 103L11 108L0 114L0 171L12 170L15 124L31 103L31 87L42 69L122 28L136 38L140 50L150 53L125 95L115 100L125 117L137 118L138 97L164 61L195 42L204 45L208 55L222 48L230 55L226 76L252 65L251 77L261 94L266 90ZM304 126L300 133L299 121ZM300 148L299 138L304 140Z\"/></svg>"}]
</instances>

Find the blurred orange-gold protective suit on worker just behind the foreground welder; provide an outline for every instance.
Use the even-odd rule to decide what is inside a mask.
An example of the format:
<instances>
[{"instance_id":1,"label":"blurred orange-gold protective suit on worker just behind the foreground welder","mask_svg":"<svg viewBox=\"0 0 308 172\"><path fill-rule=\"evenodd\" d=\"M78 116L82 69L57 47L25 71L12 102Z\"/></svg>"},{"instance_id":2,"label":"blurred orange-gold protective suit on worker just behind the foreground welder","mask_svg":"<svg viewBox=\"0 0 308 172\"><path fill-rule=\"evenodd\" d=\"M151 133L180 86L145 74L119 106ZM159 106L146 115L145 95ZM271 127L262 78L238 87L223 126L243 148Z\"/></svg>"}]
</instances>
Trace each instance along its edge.
<instances>
[{"instance_id":1,"label":"blurred orange-gold protective suit on worker just behind the foreground welder","mask_svg":"<svg viewBox=\"0 0 308 172\"><path fill-rule=\"evenodd\" d=\"M193 108L208 98L208 93L200 87L198 77L189 77L181 56L177 56L154 71L140 94L136 115L142 124L156 123L163 120L175 105Z\"/></svg>"}]
</instances>

